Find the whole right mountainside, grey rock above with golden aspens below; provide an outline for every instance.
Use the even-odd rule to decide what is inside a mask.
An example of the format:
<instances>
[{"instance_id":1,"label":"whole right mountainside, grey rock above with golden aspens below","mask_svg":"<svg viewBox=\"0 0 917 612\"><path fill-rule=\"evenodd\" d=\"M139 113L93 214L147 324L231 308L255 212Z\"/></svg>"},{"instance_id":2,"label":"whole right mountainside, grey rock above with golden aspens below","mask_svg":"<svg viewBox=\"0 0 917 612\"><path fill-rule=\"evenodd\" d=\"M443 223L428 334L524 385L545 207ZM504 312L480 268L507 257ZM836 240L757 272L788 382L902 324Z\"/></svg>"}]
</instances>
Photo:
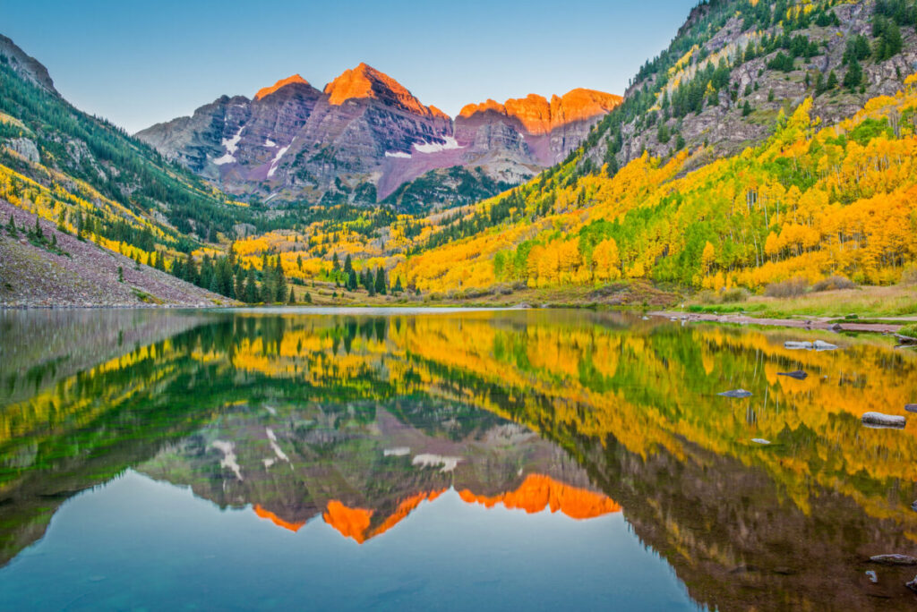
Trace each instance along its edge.
<instances>
[{"instance_id":1,"label":"whole right mountainside, grey rock above with golden aspens below","mask_svg":"<svg viewBox=\"0 0 917 612\"><path fill-rule=\"evenodd\" d=\"M915 25L897 0L702 2L568 159L431 217L392 276L479 293L898 282L917 259Z\"/></svg>"}]
</instances>

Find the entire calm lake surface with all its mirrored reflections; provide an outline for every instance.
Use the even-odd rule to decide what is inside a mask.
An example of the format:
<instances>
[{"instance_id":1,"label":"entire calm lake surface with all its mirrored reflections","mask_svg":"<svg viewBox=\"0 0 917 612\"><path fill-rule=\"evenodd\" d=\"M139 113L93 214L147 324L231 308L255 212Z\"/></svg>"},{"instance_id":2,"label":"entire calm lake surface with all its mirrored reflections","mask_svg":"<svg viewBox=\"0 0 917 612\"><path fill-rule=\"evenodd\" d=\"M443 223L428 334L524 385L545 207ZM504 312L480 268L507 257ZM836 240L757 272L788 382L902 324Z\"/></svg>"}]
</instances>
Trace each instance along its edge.
<instances>
[{"instance_id":1,"label":"entire calm lake surface with all its mirrored reflections","mask_svg":"<svg viewBox=\"0 0 917 612\"><path fill-rule=\"evenodd\" d=\"M910 402L881 336L0 311L0 609L908 608Z\"/></svg>"}]
</instances>

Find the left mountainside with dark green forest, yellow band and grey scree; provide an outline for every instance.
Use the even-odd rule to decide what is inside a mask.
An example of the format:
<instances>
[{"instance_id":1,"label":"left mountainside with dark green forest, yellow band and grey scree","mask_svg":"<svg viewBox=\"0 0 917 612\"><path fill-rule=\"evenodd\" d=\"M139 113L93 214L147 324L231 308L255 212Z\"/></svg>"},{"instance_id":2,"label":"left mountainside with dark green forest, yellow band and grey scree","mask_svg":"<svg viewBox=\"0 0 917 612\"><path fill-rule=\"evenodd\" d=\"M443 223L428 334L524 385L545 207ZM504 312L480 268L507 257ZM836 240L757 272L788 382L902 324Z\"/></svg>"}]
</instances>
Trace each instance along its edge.
<instances>
[{"instance_id":1,"label":"left mountainside with dark green forest, yellow band and grey scree","mask_svg":"<svg viewBox=\"0 0 917 612\"><path fill-rule=\"evenodd\" d=\"M74 108L45 67L6 37L0 211L0 303L23 305L213 305L215 294L163 274L175 269L168 260L262 223L187 169Z\"/></svg>"}]
</instances>

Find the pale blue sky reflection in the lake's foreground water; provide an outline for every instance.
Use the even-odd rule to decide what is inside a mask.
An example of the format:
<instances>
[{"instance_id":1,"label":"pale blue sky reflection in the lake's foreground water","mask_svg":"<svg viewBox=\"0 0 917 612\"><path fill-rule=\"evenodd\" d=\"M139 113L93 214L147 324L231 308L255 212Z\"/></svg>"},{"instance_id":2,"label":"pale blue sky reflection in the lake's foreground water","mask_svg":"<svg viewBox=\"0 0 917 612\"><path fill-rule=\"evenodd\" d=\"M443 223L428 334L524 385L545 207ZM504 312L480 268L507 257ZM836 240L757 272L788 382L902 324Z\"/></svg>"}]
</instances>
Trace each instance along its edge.
<instances>
[{"instance_id":1,"label":"pale blue sky reflection in the lake's foreground water","mask_svg":"<svg viewBox=\"0 0 917 612\"><path fill-rule=\"evenodd\" d=\"M623 515L574 520L454 490L362 545L128 471L73 497L0 570L4 609L691 609Z\"/></svg>"}]
</instances>

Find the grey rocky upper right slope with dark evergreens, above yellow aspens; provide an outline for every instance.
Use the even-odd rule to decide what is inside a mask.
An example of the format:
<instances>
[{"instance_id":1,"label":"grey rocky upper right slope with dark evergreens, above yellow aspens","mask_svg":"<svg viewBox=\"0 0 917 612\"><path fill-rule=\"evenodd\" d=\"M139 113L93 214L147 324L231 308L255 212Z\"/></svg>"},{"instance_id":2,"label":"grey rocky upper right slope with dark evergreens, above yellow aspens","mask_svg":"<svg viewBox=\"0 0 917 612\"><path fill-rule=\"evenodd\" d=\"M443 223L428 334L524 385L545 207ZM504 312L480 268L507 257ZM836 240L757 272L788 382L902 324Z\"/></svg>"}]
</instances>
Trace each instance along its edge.
<instances>
[{"instance_id":1,"label":"grey rocky upper right slope with dark evergreens, above yellow aspens","mask_svg":"<svg viewBox=\"0 0 917 612\"><path fill-rule=\"evenodd\" d=\"M705 148L697 167L768 137L780 110L806 97L812 116L834 125L914 71L914 11L903 0L703 2L637 73L581 163L613 159L615 170L644 151Z\"/></svg>"}]
</instances>

